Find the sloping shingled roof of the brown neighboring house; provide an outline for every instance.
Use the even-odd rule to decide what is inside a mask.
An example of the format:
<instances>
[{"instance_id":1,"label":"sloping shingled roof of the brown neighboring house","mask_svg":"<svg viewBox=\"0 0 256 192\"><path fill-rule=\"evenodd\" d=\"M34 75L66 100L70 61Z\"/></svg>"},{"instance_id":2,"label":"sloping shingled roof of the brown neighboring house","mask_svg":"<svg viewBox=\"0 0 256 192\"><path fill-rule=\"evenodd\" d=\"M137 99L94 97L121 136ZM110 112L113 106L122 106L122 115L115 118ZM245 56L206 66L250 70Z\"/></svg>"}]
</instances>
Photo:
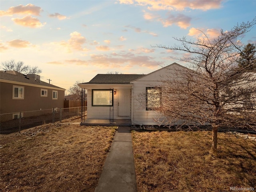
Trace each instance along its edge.
<instances>
[{"instance_id":1,"label":"sloping shingled roof of the brown neighboring house","mask_svg":"<svg viewBox=\"0 0 256 192\"><path fill-rule=\"evenodd\" d=\"M60 89L64 89L49 83L46 83L44 81L38 80L33 77L28 77L27 75L21 74L19 72L16 71L0 71L0 79L3 80L10 80L10 81L15 81L15 82L22 82L22 83L29 83L29 84L34 84L34 85L38 85L38 86L48 86L48 87L52 87L52 88L60 88Z\"/></svg>"}]
</instances>

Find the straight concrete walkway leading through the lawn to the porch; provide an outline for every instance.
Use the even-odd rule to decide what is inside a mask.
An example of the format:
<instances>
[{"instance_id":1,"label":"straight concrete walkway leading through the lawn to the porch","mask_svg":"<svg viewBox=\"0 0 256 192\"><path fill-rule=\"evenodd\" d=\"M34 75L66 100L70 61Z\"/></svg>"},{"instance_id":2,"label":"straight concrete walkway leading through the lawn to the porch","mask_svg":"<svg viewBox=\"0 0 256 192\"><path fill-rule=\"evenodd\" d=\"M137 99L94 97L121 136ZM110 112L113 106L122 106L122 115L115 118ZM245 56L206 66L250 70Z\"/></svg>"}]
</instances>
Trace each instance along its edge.
<instances>
[{"instance_id":1,"label":"straight concrete walkway leading through the lawn to the porch","mask_svg":"<svg viewBox=\"0 0 256 192\"><path fill-rule=\"evenodd\" d=\"M118 127L94 192L137 192L130 126Z\"/></svg>"}]
</instances>

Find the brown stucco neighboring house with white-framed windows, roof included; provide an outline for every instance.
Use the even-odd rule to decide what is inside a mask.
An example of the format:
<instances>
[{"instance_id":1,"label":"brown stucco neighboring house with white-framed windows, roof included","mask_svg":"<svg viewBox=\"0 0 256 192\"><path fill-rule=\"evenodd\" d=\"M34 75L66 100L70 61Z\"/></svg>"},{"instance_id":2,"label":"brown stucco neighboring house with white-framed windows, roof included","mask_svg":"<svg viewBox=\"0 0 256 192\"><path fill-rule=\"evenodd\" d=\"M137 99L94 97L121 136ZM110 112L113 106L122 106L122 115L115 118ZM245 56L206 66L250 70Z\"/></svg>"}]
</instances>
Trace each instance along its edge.
<instances>
[{"instance_id":1,"label":"brown stucco neighboring house with white-framed windows, roof included","mask_svg":"<svg viewBox=\"0 0 256 192\"><path fill-rule=\"evenodd\" d=\"M64 92L36 74L0 71L0 114L63 108Z\"/></svg>"}]
</instances>

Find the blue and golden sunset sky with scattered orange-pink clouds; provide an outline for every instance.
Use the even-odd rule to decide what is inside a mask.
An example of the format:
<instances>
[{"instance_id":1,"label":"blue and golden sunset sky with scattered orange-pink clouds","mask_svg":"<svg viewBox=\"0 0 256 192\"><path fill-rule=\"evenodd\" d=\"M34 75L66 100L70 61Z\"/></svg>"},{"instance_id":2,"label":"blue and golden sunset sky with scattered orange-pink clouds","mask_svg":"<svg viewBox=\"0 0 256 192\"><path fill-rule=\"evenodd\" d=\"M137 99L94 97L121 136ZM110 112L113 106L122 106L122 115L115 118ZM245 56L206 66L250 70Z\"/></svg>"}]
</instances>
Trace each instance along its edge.
<instances>
[{"instance_id":1,"label":"blue and golden sunset sky with scattered orange-pink clouds","mask_svg":"<svg viewBox=\"0 0 256 192\"><path fill-rule=\"evenodd\" d=\"M210 38L256 16L256 0L1 0L0 62L42 69L68 90L96 74L148 74L181 56L156 44ZM199 30L196 30L199 29ZM242 43L256 43L256 26ZM2 67L2 66L1 66Z\"/></svg>"}]
</instances>

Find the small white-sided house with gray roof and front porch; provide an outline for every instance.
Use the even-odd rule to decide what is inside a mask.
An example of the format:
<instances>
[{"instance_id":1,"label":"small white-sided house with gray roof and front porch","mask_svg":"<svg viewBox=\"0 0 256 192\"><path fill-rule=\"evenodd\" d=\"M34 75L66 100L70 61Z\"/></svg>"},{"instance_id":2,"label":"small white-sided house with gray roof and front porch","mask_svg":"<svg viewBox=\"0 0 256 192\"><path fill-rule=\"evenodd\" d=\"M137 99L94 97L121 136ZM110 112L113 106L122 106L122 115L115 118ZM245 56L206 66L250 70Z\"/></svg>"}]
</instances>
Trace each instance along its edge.
<instances>
[{"instance_id":1,"label":"small white-sided house with gray roof and front porch","mask_svg":"<svg viewBox=\"0 0 256 192\"><path fill-rule=\"evenodd\" d=\"M172 70L184 68L173 63L146 75L98 74L79 84L82 90L87 90L87 119L81 124L126 120L127 125L157 125L160 114L154 108L160 105L160 92L154 88L164 78L172 78Z\"/></svg>"}]
</instances>

